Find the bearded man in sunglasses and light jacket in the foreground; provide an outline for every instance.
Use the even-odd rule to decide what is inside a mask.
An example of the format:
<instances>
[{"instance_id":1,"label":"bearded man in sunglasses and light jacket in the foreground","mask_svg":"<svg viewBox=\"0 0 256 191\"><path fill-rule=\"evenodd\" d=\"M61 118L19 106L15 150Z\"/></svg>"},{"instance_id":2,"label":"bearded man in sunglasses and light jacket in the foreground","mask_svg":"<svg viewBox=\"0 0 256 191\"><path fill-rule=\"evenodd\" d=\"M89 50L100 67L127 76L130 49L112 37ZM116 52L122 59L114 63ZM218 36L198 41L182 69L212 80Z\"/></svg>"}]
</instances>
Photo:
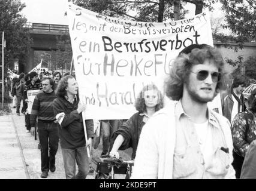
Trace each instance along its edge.
<instances>
[{"instance_id":1,"label":"bearded man in sunglasses and light jacket in the foreground","mask_svg":"<svg viewBox=\"0 0 256 191\"><path fill-rule=\"evenodd\" d=\"M216 48L193 46L172 64L171 100L144 125L131 178L235 178L230 122L207 107L225 88L224 60Z\"/></svg>"}]
</instances>

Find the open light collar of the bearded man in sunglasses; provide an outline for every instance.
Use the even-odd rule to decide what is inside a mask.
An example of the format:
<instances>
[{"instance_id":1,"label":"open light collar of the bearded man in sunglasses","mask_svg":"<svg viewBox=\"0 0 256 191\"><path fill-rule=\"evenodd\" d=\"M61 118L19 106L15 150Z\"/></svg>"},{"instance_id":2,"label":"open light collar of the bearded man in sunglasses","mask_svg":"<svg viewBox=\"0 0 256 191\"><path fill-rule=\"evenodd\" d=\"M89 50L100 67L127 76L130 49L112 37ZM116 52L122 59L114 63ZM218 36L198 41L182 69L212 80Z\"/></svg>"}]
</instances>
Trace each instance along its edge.
<instances>
[{"instance_id":1,"label":"open light collar of the bearded man in sunglasses","mask_svg":"<svg viewBox=\"0 0 256 191\"><path fill-rule=\"evenodd\" d=\"M220 128L219 122L215 118L215 116L213 115L212 112L213 111L210 110L209 107L207 106L207 116L208 116L209 123L212 124L213 127ZM185 111L183 110L181 100L179 100L176 104L175 115L176 115L177 119L180 119L180 117L182 117L182 116L186 116L186 117L190 118L190 116L188 114L186 114Z\"/></svg>"}]
</instances>

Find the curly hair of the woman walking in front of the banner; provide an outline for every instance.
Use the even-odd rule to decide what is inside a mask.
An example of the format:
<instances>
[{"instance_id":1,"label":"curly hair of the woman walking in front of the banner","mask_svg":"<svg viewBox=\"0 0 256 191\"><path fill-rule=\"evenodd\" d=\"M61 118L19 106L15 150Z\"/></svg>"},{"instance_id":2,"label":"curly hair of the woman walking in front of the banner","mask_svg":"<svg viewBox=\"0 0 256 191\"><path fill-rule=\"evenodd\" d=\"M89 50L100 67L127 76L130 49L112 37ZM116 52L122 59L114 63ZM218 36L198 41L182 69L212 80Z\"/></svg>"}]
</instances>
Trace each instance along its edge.
<instances>
[{"instance_id":1,"label":"curly hair of the woman walking in front of the banner","mask_svg":"<svg viewBox=\"0 0 256 191\"><path fill-rule=\"evenodd\" d=\"M138 97L135 101L135 109L138 111L138 113L147 112L146 104L145 104L145 100L144 100L144 93L145 93L145 91L148 91L148 90L155 90L158 94L158 104L156 104L156 106L155 106L155 111L162 109L162 107L164 106L164 97L162 96L161 91L158 90L156 85L148 84L142 88L142 90L138 94Z\"/></svg>"}]
</instances>

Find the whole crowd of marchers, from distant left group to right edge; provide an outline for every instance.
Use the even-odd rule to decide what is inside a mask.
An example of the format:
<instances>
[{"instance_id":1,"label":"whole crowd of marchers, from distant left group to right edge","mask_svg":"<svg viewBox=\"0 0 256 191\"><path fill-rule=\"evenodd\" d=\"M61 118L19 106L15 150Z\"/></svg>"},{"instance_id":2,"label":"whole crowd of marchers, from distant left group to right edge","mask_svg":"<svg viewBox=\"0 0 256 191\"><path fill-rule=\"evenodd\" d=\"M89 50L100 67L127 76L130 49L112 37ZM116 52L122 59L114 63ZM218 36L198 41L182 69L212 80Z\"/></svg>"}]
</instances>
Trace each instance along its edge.
<instances>
[{"instance_id":1,"label":"whole crowd of marchers, from distant left group to right edge","mask_svg":"<svg viewBox=\"0 0 256 191\"><path fill-rule=\"evenodd\" d=\"M137 113L124 120L100 120L103 152L119 158L132 147L131 178L256 178L256 90L248 100L249 79L236 76L227 88L224 60L216 48L193 44L179 53L165 81L164 96L154 84L145 85L135 100ZM60 141L66 178L86 178L87 147L91 150L94 121L86 119L85 140L76 76L53 72L20 73L6 79L16 113L25 114L26 132L37 126L41 177L54 172ZM28 91L40 90L28 113ZM221 97L222 115L207 103ZM95 141L95 140L94 140ZM97 142L97 141L95 141ZM97 144L97 143L96 143ZM76 174L76 164L79 171Z\"/></svg>"}]
</instances>

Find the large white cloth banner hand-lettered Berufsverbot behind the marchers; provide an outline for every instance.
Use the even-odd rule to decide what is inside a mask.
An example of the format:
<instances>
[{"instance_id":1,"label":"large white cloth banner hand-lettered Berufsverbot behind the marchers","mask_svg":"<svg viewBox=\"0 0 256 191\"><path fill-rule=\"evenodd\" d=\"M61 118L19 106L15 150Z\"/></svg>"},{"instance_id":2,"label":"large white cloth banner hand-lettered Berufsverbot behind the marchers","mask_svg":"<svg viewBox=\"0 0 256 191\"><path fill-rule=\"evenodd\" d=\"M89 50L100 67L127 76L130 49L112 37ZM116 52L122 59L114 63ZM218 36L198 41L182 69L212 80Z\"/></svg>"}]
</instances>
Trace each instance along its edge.
<instances>
[{"instance_id":1,"label":"large white cloth banner hand-lettered Berufsverbot behind the marchers","mask_svg":"<svg viewBox=\"0 0 256 191\"><path fill-rule=\"evenodd\" d=\"M86 119L128 119L143 85L164 92L171 63L191 44L213 46L209 13L165 23L120 20L68 5L68 20Z\"/></svg>"}]
</instances>

